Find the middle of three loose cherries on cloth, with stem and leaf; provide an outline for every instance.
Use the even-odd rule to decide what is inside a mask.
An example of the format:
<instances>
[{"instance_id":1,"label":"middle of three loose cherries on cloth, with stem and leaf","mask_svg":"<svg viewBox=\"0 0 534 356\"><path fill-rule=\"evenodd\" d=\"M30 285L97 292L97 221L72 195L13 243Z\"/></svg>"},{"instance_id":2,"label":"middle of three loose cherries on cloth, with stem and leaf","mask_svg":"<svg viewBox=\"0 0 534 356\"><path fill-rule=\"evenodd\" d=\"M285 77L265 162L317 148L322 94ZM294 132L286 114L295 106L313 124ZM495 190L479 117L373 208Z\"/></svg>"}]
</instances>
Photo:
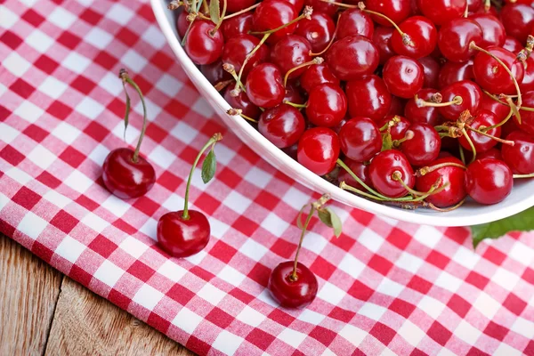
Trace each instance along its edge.
<instances>
[{"instance_id":1,"label":"middle of three loose cherries on cloth, with stem and leaf","mask_svg":"<svg viewBox=\"0 0 534 356\"><path fill-rule=\"evenodd\" d=\"M211 149L202 164L202 181L206 183L213 178L216 169L214 146L222 139L222 134L214 134L198 152L185 187L183 210L166 213L159 218L158 244L169 255L178 258L195 255L209 242L211 229L206 215L189 208L190 183L198 161L208 148Z\"/></svg>"}]
</instances>

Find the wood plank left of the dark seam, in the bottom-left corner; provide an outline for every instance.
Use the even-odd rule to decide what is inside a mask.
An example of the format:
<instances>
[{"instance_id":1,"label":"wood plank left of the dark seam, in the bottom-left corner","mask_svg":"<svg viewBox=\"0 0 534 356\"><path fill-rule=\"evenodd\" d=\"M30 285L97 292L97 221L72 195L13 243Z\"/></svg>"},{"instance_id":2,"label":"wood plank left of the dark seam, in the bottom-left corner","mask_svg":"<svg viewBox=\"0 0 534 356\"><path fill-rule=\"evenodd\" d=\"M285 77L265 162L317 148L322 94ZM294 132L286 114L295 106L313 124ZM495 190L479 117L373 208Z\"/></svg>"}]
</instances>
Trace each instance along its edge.
<instances>
[{"instance_id":1,"label":"wood plank left of the dark seam, in the bottom-left corner","mask_svg":"<svg viewBox=\"0 0 534 356\"><path fill-rule=\"evenodd\" d=\"M0 234L0 355L42 355L62 274Z\"/></svg>"}]
</instances>

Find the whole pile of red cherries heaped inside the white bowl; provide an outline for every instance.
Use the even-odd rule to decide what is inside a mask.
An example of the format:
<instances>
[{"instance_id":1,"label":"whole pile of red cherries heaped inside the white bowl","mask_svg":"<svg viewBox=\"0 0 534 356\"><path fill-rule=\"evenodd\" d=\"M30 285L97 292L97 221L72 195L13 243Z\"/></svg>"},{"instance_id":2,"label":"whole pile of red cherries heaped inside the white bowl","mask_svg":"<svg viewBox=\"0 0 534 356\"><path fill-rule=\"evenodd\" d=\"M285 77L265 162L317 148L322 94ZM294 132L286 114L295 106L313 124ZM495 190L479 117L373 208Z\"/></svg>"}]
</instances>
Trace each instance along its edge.
<instances>
[{"instance_id":1,"label":"whole pile of red cherries heaped inside the white bowl","mask_svg":"<svg viewBox=\"0 0 534 356\"><path fill-rule=\"evenodd\" d=\"M534 174L534 0L207 1L169 8L229 114L342 189L449 211Z\"/></svg>"}]
</instances>

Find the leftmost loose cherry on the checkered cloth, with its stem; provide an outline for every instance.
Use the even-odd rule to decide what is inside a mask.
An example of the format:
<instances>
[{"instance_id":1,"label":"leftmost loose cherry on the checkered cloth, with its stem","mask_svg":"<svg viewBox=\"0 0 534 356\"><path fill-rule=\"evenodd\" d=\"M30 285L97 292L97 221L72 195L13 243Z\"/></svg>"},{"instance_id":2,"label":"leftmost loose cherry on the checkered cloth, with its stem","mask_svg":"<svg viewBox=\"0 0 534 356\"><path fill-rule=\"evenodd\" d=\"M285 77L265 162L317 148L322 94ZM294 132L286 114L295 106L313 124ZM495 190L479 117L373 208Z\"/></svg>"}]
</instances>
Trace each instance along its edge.
<instances>
[{"instance_id":1,"label":"leftmost loose cherry on the checkered cloth, with its stem","mask_svg":"<svg viewBox=\"0 0 534 356\"><path fill-rule=\"evenodd\" d=\"M131 85L139 94L142 102L142 129L135 150L122 148L112 150L104 160L102 166L102 181L106 188L118 198L138 198L149 191L156 182L156 171L150 162L139 155L141 142L147 128L147 107L141 89L128 75L125 69L120 69L119 78L123 85ZM126 87L125 87L126 88ZM125 130L130 115L130 97L126 93Z\"/></svg>"}]
</instances>

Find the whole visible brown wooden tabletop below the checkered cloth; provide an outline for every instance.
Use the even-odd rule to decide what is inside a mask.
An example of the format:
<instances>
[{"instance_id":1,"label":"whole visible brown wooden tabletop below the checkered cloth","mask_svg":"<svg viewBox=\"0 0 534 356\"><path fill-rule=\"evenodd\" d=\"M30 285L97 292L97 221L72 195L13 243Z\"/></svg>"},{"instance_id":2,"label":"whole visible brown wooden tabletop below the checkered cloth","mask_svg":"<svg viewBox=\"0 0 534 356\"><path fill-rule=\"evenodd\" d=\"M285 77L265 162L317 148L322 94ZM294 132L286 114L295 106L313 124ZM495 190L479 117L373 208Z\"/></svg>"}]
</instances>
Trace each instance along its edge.
<instances>
[{"instance_id":1,"label":"whole visible brown wooden tabletop below the checkered cloth","mask_svg":"<svg viewBox=\"0 0 534 356\"><path fill-rule=\"evenodd\" d=\"M193 355L0 234L0 355Z\"/></svg>"}]
</instances>

